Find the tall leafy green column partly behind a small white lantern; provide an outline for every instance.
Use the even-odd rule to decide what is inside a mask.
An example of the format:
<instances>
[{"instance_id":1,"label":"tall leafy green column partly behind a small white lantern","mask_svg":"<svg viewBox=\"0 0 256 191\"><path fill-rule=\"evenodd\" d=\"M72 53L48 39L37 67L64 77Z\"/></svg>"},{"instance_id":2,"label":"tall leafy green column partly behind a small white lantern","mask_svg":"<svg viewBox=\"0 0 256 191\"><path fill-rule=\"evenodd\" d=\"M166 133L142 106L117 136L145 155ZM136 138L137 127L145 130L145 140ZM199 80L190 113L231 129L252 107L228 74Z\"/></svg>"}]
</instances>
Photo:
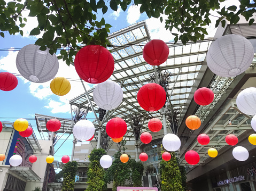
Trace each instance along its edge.
<instances>
[{"instance_id":1,"label":"tall leafy green column partly behind a small white lantern","mask_svg":"<svg viewBox=\"0 0 256 191\"><path fill-rule=\"evenodd\" d=\"M105 170L100 166L100 157L106 152L102 148L94 149L89 155L89 169L87 171L88 187L86 191L104 191L107 190L106 182L104 181Z\"/></svg>"}]
</instances>

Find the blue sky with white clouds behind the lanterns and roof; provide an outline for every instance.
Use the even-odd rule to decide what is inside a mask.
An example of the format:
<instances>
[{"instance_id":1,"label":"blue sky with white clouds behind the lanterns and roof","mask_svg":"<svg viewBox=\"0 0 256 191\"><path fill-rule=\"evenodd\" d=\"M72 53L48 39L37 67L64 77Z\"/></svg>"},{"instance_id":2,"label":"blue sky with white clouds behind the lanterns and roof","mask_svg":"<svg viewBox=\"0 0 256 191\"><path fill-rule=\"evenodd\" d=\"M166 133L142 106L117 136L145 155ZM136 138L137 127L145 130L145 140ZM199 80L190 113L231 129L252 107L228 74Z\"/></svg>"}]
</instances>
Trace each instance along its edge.
<instances>
[{"instance_id":1,"label":"blue sky with white clouds behind the lanterns and roof","mask_svg":"<svg viewBox=\"0 0 256 191\"><path fill-rule=\"evenodd\" d=\"M230 0L231 4L234 4L234 0ZM229 5L230 6L230 5ZM22 12L23 15L27 15L28 12ZM101 18L102 12L99 11L98 18ZM110 29L111 32L115 32L136 22L146 20L148 29L150 31L151 39L162 39L164 41L170 41L173 39L173 36L170 35L169 31L166 31L164 23L160 23L158 19L148 19L146 14L139 13L139 7L129 6L126 12L123 12L120 7L118 12L114 12L108 9L108 12L104 15L106 23L111 24L113 27ZM213 18L214 19L214 18ZM27 18L26 27L23 28L24 36L20 35L10 36L5 32L5 38L0 37L0 48L22 48L28 44L34 44L36 37L28 36L30 30L36 27L35 23L37 22L36 18ZM215 23L213 21L213 26ZM3 52L0 51L0 72L11 72L18 74L18 70L15 65L15 58L17 51ZM1 103L1 112L0 112L0 121L10 121L13 122L18 118L25 118L29 123L32 124L33 129L37 135L38 139L41 137L38 135L36 122L34 118L35 113L50 115L53 117L60 118L71 118L69 100L78 96L82 93L83 87L81 82L74 81L79 79L73 66L67 67L67 65L59 60L59 72L56 77L65 77L71 79L71 92L66 96L56 96L51 93L50 90L50 81L43 84L36 84L25 80L23 77L18 77L18 86L10 91L4 92L0 91L0 103ZM92 87L89 84L86 84L87 89ZM88 114L89 119L94 119L92 113ZM45 134L45 136L47 136ZM67 135L63 136L58 144L55 146L57 149ZM72 140L71 136L65 144L58 150L55 155L55 160L61 161L61 156L71 155L72 151Z\"/></svg>"}]
</instances>

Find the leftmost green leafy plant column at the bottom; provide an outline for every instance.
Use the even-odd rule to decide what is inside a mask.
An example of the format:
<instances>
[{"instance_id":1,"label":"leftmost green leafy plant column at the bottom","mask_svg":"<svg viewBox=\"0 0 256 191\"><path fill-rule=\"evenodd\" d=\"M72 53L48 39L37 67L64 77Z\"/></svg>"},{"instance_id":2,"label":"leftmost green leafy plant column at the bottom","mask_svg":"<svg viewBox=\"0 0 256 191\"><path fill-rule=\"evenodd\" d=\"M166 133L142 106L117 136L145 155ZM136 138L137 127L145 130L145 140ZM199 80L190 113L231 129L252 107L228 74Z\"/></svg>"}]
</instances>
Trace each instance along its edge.
<instances>
[{"instance_id":1,"label":"leftmost green leafy plant column at the bottom","mask_svg":"<svg viewBox=\"0 0 256 191\"><path fill-rule=\"evenodd\" d=\"M65 164L63 168L63 186L62 191L73 191L75 186L75 175L77 171L77 162L72 161Z\"/></svg>"}]
</instances>

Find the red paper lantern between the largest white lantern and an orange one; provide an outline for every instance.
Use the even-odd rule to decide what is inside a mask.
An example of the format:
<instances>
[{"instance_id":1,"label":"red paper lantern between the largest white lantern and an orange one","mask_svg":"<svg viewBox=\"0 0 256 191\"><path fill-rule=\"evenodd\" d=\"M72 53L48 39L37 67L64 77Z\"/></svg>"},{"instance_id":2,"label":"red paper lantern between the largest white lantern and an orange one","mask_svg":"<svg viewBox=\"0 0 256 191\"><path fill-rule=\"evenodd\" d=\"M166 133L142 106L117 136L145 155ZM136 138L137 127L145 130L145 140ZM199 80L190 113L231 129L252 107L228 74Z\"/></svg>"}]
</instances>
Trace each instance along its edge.
<instances>
[{"instance_id":1,"label":"red paper lantern between the largest white lantern and an orange one","mask_svg":"<svg viewBox=\"0 0 256 191\"><path fill-rule=\"evenodd\" d=\"M214 94L209 88L199 88L194 94L194 100L198 105L209 105L213 102Z\"/></svg>"}]
</instances>

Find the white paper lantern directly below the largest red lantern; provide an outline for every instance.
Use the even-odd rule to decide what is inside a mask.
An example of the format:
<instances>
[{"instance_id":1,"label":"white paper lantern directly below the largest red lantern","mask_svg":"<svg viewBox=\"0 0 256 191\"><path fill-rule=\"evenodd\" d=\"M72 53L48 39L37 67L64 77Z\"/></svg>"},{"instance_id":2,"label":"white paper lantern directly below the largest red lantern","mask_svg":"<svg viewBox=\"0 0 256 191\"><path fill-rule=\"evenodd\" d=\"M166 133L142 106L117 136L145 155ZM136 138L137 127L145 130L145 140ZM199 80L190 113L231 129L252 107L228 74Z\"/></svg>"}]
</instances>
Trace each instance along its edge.
<instances>
[{"instance_id":1,"label":"white paper lantern directly below the largest red lantern","mask_svg":"<svg viewBox=\"0 0 256 191\"><path fill-rule=\"evenodd\" d=\"M94 89L94 101L104 110L113 110L123 99L123 90L117 82L107 80L98 84Z\"/></svg>"}]
</instances>

